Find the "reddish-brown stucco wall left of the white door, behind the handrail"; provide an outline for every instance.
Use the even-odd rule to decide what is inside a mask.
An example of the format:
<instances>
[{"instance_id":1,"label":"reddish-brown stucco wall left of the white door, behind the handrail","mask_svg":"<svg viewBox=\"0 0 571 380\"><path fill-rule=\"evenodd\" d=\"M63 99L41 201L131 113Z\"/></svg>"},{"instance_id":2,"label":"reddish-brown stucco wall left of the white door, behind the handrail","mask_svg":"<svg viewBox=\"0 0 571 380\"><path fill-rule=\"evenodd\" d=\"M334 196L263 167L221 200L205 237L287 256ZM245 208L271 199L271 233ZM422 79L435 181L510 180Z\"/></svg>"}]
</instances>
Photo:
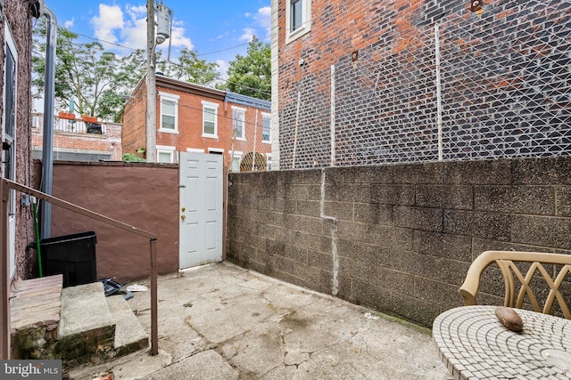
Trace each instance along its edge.
<instances>
[{"instance_id":1,"label":"reddish-brown stucco wall left of the white door, behind the handrail","mask_svg":"<svg viewBox=\"0 0 571 380\"><path fill-rule=\"evenodd\" d=\"M178 166L55 162L53 194L157 234L159 273L178 271ZM52 236L91 230L97 239L99 278L124 281L149 275L148 239L52 208Z\"/></svg>"}]
</instances>

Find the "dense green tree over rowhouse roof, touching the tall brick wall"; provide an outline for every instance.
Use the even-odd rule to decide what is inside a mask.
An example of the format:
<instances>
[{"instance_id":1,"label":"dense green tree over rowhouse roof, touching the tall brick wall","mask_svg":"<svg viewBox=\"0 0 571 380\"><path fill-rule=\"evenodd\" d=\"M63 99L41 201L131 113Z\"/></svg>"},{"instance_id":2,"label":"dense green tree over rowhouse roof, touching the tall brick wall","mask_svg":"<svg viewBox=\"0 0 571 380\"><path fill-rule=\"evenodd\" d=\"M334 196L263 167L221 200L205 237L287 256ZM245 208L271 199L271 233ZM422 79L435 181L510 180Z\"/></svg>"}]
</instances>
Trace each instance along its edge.
<instances>
[{"instance_id":1,"label":"dense green tree over rowhouse roof, touching the tall brick wall","mask_svg":"<svg viewBox=\"0 0 571 380\"><path fill-rule=\"evenodd\" d=\"M228 81L219 85L220 89L228 88L233 93L252 96L269 101L271 99L271 49L269 44L262 43L256 36L248 44L245 56L236 55L230 61Z\"/></svg>"}]
</instances>

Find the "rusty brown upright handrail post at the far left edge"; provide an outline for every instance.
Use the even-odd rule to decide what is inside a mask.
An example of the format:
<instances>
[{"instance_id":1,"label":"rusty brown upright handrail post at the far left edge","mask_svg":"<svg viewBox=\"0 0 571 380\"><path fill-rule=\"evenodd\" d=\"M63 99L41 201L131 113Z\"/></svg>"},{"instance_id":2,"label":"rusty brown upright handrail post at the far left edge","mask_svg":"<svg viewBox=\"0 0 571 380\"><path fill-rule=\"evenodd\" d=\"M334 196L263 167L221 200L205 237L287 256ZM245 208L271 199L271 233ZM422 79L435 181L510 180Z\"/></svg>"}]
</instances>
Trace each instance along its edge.
<instances>
[{"instance_id":1,"label":"rusty brown upright handrail post at the far left edge","mask_svg":"<svg viewBox=\"0 0 571 380\"><path fill-rule=\"evenodd\" d=\"M0 345L0 359L10 359L10 255L8 255L8 186L4 184L4 179L0 180L0 194L2 194L2 204L0 214L2 214L2 231L0 231L0 251L2 252L2 265L0 266L0 303L2 303L2 344Z\"/></svg>"}]
</instances>

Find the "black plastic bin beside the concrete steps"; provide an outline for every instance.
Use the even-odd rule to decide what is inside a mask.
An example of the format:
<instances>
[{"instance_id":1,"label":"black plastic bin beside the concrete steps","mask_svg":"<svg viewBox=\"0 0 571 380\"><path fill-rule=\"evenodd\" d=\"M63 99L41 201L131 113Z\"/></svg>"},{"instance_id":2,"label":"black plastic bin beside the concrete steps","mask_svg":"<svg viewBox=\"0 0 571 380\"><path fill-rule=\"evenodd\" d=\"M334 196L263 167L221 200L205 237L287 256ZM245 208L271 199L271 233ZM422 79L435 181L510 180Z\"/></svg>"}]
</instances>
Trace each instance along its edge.
<instances>
[{"instance_id":1,"label":"black plastic bin beside the concrete steps","mask_svg":"<svg viewBox=\"0 0 571 380\"><path fill-rule=\"evenodd\" d=\"M63 275L63 287L97 280L94 231L41 239L42 271L45 276Z\"/></svg>"}]
</instances>

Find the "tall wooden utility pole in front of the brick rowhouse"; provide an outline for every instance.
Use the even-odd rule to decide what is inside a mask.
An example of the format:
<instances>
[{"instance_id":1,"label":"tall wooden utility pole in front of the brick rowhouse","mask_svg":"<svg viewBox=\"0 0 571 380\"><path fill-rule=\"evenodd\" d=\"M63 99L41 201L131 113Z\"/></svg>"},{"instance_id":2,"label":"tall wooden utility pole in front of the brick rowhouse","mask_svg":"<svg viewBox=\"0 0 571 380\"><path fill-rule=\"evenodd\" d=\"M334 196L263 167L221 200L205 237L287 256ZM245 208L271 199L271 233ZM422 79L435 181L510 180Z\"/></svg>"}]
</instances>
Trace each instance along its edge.
<instances>
[{"instance_id":1,"label":"tall wooden utility pole in front of the brick rowhouse","mask_svg":"<svg viewBox=\"0 0 571 380\"><path fill-rule=\"evenodd\" d=\"M146 162L156 161L157 86L154 56L154 2L146 2Z\"/></svg>"}]
</instances>

